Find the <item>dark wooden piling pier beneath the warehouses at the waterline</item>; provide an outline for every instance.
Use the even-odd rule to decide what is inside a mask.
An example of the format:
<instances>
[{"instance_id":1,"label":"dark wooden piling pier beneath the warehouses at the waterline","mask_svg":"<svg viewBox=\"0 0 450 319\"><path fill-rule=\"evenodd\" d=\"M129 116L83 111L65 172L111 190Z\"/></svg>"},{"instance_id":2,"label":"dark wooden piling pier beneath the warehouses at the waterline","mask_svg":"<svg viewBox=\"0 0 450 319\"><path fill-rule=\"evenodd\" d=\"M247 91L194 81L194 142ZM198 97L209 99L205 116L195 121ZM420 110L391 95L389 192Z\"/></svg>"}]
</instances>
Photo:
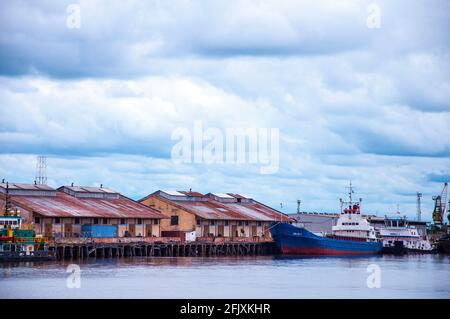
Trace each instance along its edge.
<instances>
[{"instance_id":1,"label":"dark wooden piling pier beneath the warehouses at the waterline","mask_svg":"<svg viewBox=\"0 0 450 319\"><path fill-rule=\"evenodd\" d=\"M58 259L121 257L262 256L276 253L273 242L54 243Z\"/></svg>"}]
</instances>

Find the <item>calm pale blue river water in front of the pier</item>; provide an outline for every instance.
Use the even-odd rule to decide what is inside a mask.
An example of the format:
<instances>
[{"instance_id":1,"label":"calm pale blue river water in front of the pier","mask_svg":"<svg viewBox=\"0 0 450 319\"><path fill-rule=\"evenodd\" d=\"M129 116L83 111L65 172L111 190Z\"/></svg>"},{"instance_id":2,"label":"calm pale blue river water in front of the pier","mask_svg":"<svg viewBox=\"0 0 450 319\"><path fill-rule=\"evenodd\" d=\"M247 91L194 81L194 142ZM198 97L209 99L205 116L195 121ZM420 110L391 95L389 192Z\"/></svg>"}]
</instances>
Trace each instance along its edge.
<instances>
[{"instance_id":1,"label":"calm pale blue river water in front of the pier","mask_svg":"<svg viewBox=\"0 0 450 319\"><path fill-rule=\"evenodd\" d=\"M97 259L72 289L70 263L0 264L0 298L450 298L449 256Z\"/></svg>"}]
</instances>

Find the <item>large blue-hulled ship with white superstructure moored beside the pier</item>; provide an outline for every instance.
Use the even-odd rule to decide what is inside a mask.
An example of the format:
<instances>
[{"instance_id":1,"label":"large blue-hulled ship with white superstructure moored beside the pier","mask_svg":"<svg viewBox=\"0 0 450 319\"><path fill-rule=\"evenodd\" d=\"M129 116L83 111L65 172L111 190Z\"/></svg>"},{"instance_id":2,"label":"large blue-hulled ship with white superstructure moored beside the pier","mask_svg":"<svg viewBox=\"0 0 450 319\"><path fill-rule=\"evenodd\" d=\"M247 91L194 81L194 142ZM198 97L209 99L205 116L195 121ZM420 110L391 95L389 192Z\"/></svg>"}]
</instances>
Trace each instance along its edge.
<instances>
[{"instance_id":1,"label":"large blue-hulled ship with white superstructure moored beside the pier","mask_svg":"<svg viewBox=\"0 0 450 319\"><path fill-rule=\"evenodd\" d=\"M352 184L349 201L340 199L341 213L330 235L318 236L304 227L288 223L273 224L270 231L281 254L285 255L369 255L383 247L374 227L361 216L361 199L353 202Z\"/></svg>"}]
</instances>

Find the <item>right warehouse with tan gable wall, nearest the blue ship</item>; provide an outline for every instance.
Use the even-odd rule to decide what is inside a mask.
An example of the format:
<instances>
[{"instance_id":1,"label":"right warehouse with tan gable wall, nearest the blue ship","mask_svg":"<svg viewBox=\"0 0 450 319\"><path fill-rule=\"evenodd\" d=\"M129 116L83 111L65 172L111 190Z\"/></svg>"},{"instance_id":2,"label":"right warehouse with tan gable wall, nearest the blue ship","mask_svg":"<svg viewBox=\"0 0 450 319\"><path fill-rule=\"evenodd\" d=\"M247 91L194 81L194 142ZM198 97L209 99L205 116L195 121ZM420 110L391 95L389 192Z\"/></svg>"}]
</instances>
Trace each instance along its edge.
<instances>
[{"instance_id":1,"label":"right warehouse with tan gable wall, nearest the blue ship","mask_svg":"<svg viewBox=\"0 0 450 319\"><path fill-rule=\"evenodd\" d=\"M140 200L169 219L161 221L162 236L181 232L194 239L269 240L273 222L290 220L285 214L248 196L158 190ZM187 237L185 239L188 239Z\"/></svg>"}]
</instances>

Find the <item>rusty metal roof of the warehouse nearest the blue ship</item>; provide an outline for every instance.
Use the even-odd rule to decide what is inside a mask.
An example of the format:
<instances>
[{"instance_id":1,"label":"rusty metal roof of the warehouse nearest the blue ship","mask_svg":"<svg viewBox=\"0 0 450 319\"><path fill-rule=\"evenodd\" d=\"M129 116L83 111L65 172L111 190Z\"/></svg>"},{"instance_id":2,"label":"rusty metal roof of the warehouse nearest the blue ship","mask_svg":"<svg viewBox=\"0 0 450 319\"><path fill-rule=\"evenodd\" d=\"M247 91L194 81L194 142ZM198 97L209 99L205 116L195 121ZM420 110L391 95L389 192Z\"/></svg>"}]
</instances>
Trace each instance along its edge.
<instances>
[{"instance_id":1,"label":"rusty metal roof of the warehouse nearest the blue ship","mask_svg":"<svg viewBox=\"0 0 450 319\"><path fill-rule=\"evenodd\" d=\"M174 200L153 193L163 201L171 203L204 219L215 220L248 220L248 221L288 221L290 218L255 200L245 203L219 202L211 197L203 196L201 200Z\"/></svg>"}]
</instances>

